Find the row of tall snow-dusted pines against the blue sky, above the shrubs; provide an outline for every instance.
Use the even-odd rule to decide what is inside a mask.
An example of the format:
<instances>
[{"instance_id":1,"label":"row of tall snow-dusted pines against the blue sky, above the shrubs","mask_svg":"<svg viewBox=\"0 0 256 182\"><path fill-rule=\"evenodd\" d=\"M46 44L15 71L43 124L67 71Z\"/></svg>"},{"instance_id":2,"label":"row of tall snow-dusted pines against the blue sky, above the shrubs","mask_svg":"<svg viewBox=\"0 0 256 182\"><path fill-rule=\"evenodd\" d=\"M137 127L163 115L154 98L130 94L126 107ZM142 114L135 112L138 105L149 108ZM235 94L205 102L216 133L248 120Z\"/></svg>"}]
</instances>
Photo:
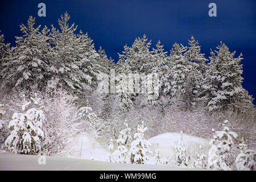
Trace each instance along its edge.
<instances>
[{"instance_id":1,"label":"row of tall snow-dusted pines against the blue sky, above the shrubs","mask_svg":"<svg viewBox=\"0 0 256 182\"><path fill-rule=\"evenodd\" d=\"M253 98L242 87L242 53L236 56L226 44L220 42L207 59L193 36L188 46L175 43L168 53L160 41L151 49L151 40L143 35L131 47L124 46L115 64L104 49L96 51L88 34L78 32L74 23L68 23L69 19L65 13L58 20L59 29L53 25L41 28L35 27L35 18L30 16L27 26L20 25L23 36L16 37L15 47L5 44L3 35L0 36L3 89L9 92L61 88L77 104L85 105L89 100L99 117L113 121L113 113L122 115L138 108L157 108L164 118L166 109L174 106L181 111L201 106L206 113L231 111L241 118L253 117ZM110 76L110 69L118 75L114 80L117 94L100 94L99 79L104 74ZM121 92L129 85L123 75L129 73L157 73L158 97L152 97L152 92Z\"/></svg>"}]
</instances>

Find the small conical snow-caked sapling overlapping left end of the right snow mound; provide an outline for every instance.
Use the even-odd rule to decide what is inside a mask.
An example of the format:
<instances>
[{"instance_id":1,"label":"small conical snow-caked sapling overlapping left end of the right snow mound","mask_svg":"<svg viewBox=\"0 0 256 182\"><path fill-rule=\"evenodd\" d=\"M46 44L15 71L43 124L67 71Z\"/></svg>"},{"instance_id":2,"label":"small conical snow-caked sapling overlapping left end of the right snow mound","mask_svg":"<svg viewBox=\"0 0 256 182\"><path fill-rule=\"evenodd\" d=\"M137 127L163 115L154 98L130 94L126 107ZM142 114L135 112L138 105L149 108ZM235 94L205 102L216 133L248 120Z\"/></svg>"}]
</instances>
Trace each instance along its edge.
<instances>
[{"instance_id":1,"label":"small conical snow-caked sapling overlapping left end of the right snow mound","mask_svg":"<svg viewBox=\"0 0 256 182\"><path fill-rule=\"evenodd\" d=\"M131 163L144 164L148 160L148 153L152 154L149 146L151 145L148 140L144 139L144 132L147 127L144 127L144 122L142 125L138 125L137 133L134 134L133 142L131 142L131 147L129 154L131 156Z\"/></svg>"}]
</instances>

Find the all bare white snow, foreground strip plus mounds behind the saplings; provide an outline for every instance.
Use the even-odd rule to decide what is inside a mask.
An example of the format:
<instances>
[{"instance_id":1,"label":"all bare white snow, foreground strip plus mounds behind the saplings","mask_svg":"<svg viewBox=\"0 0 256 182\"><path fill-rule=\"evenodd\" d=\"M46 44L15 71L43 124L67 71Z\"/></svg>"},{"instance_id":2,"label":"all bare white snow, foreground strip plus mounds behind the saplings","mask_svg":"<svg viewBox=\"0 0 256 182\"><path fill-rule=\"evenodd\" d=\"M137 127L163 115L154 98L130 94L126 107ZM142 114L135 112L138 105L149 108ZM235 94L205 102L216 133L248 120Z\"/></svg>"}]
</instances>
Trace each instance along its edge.
<instances>
[{"instance_id":1,"label":"all bare white snow, foreground strip plus mounds behind the saplings","mask_svg":"<svg viewBox=\"0 0 256 182\"><path fill-rule=\"evenodd\" d=\"M192 170L190 168L177 167L175 164L174 146L179 142L180 134L164 133L148 139L152 144L153 151L146 164L120 164L106 162L106 155L109 153L106 144L95 142L86 133L78 134L74 137L74 142L69 146L69 150L63 157L46 157L46 165L38 164L37 155L13 155L0 154L0 170L106 170L106 171L126 171L126 170ZM183 141L189 154L196 155L199 146L203 146L205 154L209 150L209 140L183 134ZM159 153L162 157L170 158L171 165L155 165L156 143L159 143ZM94 150L93 150L94 148ZM195 170L195 169L193 169Z\"/></svg>"}]
</instances>

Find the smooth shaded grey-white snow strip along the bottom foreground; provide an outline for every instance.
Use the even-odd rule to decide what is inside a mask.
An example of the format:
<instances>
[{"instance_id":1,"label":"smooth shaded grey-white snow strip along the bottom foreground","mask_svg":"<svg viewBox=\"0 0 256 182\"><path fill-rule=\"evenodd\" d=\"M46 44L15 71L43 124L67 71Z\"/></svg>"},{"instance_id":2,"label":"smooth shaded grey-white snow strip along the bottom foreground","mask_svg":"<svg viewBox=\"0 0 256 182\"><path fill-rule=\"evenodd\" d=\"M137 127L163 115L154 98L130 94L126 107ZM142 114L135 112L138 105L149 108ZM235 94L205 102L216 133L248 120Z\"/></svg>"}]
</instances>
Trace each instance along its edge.
<instances>
[{"instance_id":1,"label":"smooth shaded grey-white snow strip along the bottom foreground","mask_svg":"<svg viewBox=\"0 0 256 182\"><path fill-rule=\"evenodd\" d=\"M38 164L38 155L0 154L0 171L3 170L86 170L86 171L167 171L189 170L170 166L119 164L86 159L58 158L47 156L46 164Z\"/></svg>"}]
</instances>

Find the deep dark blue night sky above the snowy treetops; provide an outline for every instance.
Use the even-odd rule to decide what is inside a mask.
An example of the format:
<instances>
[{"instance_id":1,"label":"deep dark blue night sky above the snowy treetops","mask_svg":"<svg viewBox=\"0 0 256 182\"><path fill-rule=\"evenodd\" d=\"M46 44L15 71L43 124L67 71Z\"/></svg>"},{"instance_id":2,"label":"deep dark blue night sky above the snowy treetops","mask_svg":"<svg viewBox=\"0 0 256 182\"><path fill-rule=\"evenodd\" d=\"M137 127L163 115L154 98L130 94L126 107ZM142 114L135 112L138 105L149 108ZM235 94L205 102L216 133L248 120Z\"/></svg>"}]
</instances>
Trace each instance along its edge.
<instances>
[{"instance_id":1,"label":"deep dark blue night sky above the snowy treetops","mask_svg":"<svg viewBox=\"0 0 256 182\"><path fill-rule=\"evenodd\" d=\"M46 3L46 17L38 16L38 4ZM217 17L208 16L208 5L217 5ZM199 40L201 52L209 56L220 41L230 51L243 53L243 86L256 96L256 1L1 1L0 30L5 41L15 46L15 36L21 36L19 24L27 23L30 15L36 26L57 26L57 19L67 11L70 23L88 32L96 49L102 46L108 57L117 61L123 46L131 46L134 39L146 34L155 46L161 40L166 51L175 42L187 45L191 35ZM254 101L255 104L255 101Z\"/></svg>"}]
</instances>

